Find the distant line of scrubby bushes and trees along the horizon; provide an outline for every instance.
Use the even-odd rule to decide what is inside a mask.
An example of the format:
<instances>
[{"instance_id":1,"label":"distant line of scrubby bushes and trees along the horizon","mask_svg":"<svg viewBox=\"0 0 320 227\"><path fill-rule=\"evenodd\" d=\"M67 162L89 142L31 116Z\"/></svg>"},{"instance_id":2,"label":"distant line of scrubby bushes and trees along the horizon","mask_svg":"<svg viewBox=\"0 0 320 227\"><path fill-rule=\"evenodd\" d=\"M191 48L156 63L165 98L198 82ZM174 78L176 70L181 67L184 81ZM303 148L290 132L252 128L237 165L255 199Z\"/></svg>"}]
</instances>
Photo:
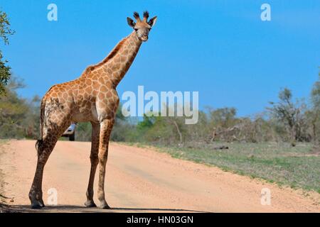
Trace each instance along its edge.
<instances>
[{"instance_id":1,"label":"distant line of scrubby bushes and trees along the horizon","mask_svg":"<svg viewBox=\"0 0 320 227\"><path fill-rule=\"evenodd\" d=\"M0 97L0 138L38 138L40 99L19 97L16 89L21 87L21 82L11 79L6 96ZM78 123L76 140L91 140L90 123ZM277 101L253 117L238 117L235 108L207 108L199 111L198 123L186 125L184 117L144 116L142 121L125 118L120 107L112 140L181 146L213 141L319 144L320 74L306 101L294 100L289 89L282 89Z\"/></svg>"}]
</instances>

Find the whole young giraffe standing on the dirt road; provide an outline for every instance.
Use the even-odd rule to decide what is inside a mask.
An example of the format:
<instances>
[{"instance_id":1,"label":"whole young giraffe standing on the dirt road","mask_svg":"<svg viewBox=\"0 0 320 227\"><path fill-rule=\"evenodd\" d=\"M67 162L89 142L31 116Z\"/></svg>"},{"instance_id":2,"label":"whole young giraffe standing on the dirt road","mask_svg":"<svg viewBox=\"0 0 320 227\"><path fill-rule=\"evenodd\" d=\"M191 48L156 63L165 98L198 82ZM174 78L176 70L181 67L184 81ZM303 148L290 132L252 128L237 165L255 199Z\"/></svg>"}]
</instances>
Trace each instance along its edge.
<instances>
[{"instance_id":1,"label":"whole young giraffe standing on the dirt road","mask_svg":"<svg viewBox=\"0 0 320 227\"><path fill-rule=\"evenodd\" d=\"M90 121L92 124L91 170L85 206L96 206L93 201L93 182L99 163L97 197L100 207L110 208L105 200L105 167L110 133L119 104L116 87L129 70L142 42L148 40L149 31L156 23L156 16L148 21L147 11L144 12L143 20L137 12L134 12L134 18L137 23L134 23L132 18L127 18L129 26L134 28L134 31L121 40L105 60L87 67L78 79L54 85L43 96L40 120L41 140L36 143L38 162L29 192L32 208L44 206L43 169L55 143L70 123L81 121Z\"/></svg>"}]
</instances>

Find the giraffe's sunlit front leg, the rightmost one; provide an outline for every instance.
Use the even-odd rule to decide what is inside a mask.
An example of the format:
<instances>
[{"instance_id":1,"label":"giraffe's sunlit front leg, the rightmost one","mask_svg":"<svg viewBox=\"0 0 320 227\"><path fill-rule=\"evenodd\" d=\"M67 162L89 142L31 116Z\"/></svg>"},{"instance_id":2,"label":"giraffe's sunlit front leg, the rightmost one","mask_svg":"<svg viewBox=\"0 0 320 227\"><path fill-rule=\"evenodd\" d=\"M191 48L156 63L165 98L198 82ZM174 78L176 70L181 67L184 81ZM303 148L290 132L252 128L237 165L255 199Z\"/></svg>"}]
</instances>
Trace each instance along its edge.
<instances>
[{"instance_id":1,"label":"giraffe's sunlit front leg, the rightmost one","mask_svg":"<svg viewBox=\"0 0 320 227\"><path fill-rule=\"evenodd\" d=\"M105 200L105 167L107 164L109 139L112 131L114 119L105 119L100 123L100 143L99 143L99 184L97 196L102 209L110 209Z\"/></svg>"}]
</instances>

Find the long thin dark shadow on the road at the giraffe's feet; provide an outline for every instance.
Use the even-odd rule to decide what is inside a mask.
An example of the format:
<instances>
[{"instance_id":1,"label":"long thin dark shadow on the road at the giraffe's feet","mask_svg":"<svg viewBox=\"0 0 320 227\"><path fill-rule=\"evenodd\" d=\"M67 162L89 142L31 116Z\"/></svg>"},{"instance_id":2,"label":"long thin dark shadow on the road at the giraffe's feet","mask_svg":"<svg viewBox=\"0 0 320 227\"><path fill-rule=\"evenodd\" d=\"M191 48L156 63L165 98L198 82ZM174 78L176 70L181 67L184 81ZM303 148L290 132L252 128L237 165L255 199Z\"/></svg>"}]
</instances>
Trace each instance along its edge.
<instances>
[{"instance_id":1,"label":"long thin dark shadow on the road at the giraffe's feet","mask_svg":"<svg viewBox=\"0 0 320 227\"><path fill-rule=\"evenodd\" d=\"M114 207L111 209L100 209L97 207L58 205L45 206L42 209L31 209L30 205L12 205L3 207L4 212L8 213L145 213L145 212L164 212L164 213L206 213L206 211L196 211L191 209L166 209L166 208L134 208L134 207Z\"/></svg>"}]
</instances>

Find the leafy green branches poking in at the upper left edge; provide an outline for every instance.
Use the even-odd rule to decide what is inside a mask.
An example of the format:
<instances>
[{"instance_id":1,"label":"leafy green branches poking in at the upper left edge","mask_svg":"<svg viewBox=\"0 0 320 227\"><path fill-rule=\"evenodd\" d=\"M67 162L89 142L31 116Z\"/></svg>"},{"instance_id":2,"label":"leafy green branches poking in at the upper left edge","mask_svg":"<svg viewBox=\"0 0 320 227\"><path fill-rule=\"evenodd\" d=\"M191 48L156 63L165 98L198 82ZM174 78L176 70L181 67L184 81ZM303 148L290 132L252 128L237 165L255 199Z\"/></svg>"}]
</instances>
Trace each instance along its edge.
<instances>
[{"instance_id":1,"label":"leafy green branches poking in at the upper left edge","mask_svg":"<svg viewBox=\"0 0 320 227\"><path fill-rule=\"evenodd\" d=\"M10 22L5 12L0 11L0 38L4 41L5 45L9 44L9 35L13 35L14 31L10 29ZM0 50L0 94L5 93L5 85L11 77L11 68L6 65L8 61L3 59Z\"/></svg>"}]
</instances>

